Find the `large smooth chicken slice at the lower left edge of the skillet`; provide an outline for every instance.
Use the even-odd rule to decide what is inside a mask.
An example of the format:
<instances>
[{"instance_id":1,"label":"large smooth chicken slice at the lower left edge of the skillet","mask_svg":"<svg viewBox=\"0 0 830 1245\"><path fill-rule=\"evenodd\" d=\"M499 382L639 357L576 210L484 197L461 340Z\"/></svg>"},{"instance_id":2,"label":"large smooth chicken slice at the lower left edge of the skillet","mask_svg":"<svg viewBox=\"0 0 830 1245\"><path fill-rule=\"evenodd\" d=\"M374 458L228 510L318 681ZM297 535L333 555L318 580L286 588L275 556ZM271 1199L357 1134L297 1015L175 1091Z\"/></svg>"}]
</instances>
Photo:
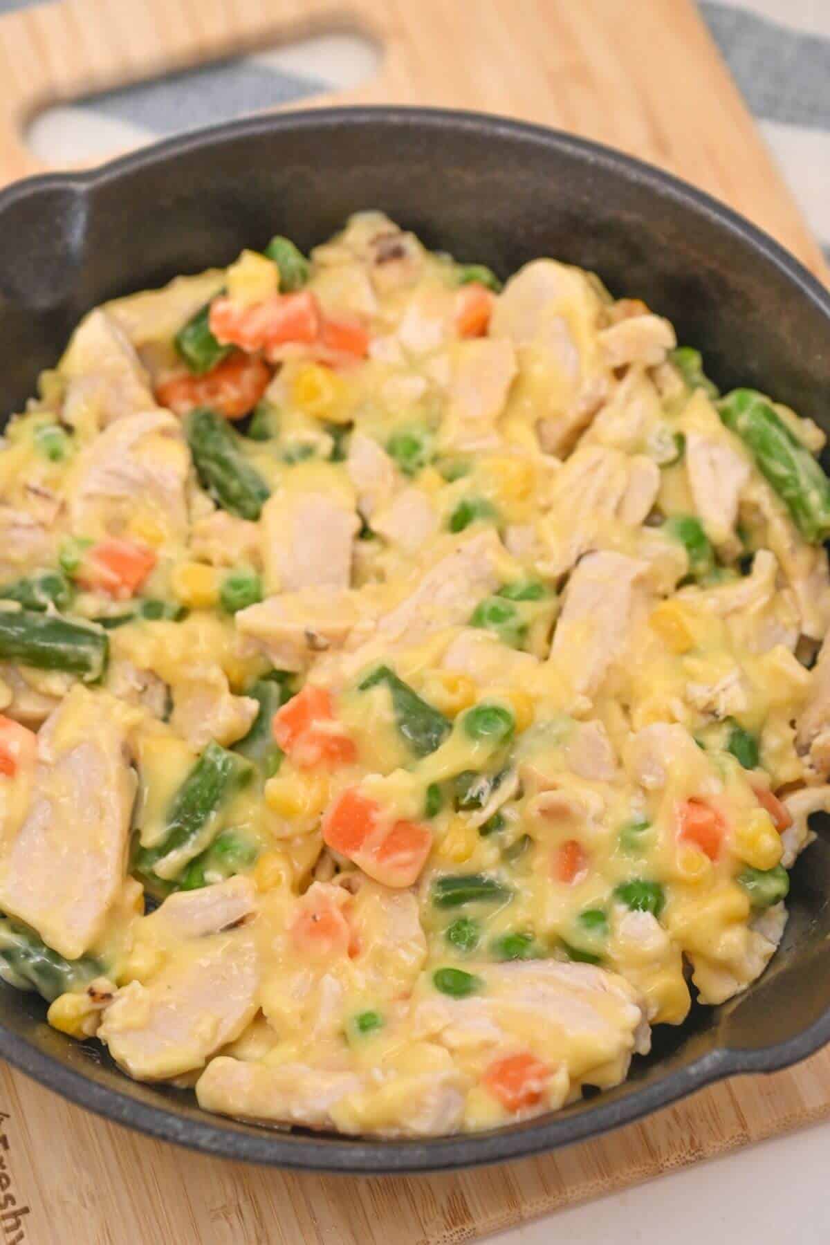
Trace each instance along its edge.
<instances>
[{"instance_id":1,"label":"large smooth chicken slice at the lower left edge of the skillet","mask_svg":"<svg viewBox=\"0 0 830 1245\"><path fill-rule=\"evenodd\" d=\"M0 908L75 960L101 934L124 879L136 774L124 711L76 685L37 737L29 812L0 848Z\"/></svg>"}]
</instances>

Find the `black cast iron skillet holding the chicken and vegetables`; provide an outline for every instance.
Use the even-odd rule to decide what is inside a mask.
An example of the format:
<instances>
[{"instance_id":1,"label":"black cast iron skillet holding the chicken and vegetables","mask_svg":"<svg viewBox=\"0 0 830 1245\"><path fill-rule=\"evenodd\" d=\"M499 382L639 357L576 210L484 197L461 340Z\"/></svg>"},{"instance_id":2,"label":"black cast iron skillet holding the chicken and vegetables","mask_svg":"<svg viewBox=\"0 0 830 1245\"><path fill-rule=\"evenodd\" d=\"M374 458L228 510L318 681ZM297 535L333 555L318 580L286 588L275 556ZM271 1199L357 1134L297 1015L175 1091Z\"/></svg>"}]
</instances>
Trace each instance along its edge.
<instances>
[{"instance_id":1,"label":"black cast iron skillet holding the chicken and vegetables","mask_svg":"<svg viewBox=\"0 0 830 1245\"><path fill-rule=\"evenodd\" d=\"M259 117L0 194L0 412L21 407L97 303L226 264L275 232L305 250L366 207L503 276L539 255L592 269L668 316L723 387L767 390L830 431L830 298L772 239L617 152L495 117L404 108ZM681 1028L660 1027L653 1053L616 1089L482 1135L363 1142L209 1116L192 1093L128 1079L96 1043L49 1028L39 998L2 984L0 1055L82 1107L210 1154L370 1173L495 1163L830 1041L829 894L830 847L819 839L794 872L784 942L757 985Z\"/></svg>"}]
</instances>

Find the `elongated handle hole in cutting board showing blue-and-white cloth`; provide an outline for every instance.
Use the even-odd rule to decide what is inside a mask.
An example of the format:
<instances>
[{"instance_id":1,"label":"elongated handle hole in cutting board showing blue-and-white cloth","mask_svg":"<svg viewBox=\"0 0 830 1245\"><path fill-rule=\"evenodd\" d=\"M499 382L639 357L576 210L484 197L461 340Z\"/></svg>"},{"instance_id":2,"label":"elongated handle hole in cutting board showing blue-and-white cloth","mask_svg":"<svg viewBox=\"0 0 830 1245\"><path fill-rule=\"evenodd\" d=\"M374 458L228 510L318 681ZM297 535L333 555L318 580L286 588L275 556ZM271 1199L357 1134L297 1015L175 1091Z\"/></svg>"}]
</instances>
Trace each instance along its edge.
<instances>
[{"instance_id":1,"label":"elongated handle hole in cutting board showing blue-and-white cloth","mask_svg":"<svg viewBox=\"0 0 830 1245\"><path fill-rule=\"evenodd\" d=\"M315 32L253 55L217 60L129 86L50 103L25 138L46 166L88 164L199 126L358 87L376 76L381 45L362 31Z\"/></svg>"}]
</instances>

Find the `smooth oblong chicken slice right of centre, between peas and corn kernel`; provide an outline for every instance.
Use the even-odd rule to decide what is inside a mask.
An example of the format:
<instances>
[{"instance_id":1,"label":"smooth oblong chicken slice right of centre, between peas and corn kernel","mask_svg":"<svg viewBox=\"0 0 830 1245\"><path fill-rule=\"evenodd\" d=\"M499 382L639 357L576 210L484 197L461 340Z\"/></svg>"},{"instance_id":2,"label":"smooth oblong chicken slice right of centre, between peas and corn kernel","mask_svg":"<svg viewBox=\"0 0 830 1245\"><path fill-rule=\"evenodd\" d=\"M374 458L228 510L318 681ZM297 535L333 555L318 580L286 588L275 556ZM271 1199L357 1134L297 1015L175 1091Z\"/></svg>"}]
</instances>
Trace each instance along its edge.
<instances>
[{"instance_id":1,"label":"smooth oblong chicken slice right of centre, between peas and corn kernel","mask_svg":"<svg viewBox=\"0 0 830 1245\"><path fill-rule=\"evenodd\" d=\"M623 651L645 605L647 564L618 553L586 554L565 589L549 666L577 695L594 697Z\"/></svg>"}]
</instances>

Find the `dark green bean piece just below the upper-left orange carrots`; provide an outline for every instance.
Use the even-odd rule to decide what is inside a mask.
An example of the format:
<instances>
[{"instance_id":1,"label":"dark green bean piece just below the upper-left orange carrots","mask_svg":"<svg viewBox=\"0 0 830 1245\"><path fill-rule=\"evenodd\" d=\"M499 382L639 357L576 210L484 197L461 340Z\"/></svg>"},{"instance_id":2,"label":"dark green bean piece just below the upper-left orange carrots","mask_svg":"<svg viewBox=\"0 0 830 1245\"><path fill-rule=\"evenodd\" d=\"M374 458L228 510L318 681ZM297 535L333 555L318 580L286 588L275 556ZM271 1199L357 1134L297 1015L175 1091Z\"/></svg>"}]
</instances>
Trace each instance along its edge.
<instances>
[{"instance_id":1,"label":"dark green bean piece just below the upper-left orange carrots","mask_svg":"<svg viewBox=\"0 0 830 1245\"><path fill-rule=\"evenodd\" d=\"M240 519L258 519L270 489L243 456L239 435L208 407L192 411L185 428L197 473L214 502Z\"/></svg>"}]
</instances>

